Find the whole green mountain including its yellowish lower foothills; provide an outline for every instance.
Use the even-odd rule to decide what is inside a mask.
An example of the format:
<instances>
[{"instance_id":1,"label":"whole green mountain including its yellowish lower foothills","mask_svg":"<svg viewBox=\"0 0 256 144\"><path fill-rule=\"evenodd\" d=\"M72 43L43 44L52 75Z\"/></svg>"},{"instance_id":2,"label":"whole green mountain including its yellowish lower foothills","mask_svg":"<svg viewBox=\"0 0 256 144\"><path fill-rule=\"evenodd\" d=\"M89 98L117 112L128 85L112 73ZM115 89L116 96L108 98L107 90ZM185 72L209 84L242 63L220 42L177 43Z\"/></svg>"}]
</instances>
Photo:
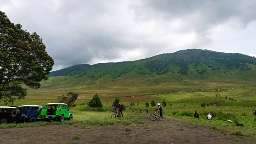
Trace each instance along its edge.
<instances>
[{"instance_id":1,"label":"whole green mountain including its yellowish lower foothills","mask_svg":"<svg viewBox=\"0 0 256 144\"><path fill-rule=\"evenodd\" d=\"M244 54L188 49L136 61L78 64L51 72L43 87L160 86L199 82L256 81L256 58Z\"/></svg>"}]
</instances>

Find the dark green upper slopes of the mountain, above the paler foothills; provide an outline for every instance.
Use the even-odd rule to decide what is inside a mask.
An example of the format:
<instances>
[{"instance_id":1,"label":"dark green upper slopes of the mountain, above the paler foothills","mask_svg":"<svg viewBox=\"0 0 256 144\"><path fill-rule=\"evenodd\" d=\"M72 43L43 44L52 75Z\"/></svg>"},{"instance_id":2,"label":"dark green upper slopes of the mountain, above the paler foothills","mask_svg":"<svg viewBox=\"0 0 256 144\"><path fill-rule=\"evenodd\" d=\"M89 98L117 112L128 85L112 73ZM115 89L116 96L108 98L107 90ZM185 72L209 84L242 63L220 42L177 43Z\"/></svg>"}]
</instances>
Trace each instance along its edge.
<instances>
[{"instance_id":1,"label":"dark green upper slopes of the mountain, above the paler foothills","mask_svg":"<svg viewBox=\"0 0 256 144\"><path fill-rule=\"evenodd\" d=\"M78 76L98 79L105 75L111 75L118 78L132 71L144 76L167 73L188 75L189 72L203 74L208 69L223 72L250 71L255 65L256 58L244 54L188 49L129 62L78 64L51 72L48 76Z\"/></svg>"}]
</instances>

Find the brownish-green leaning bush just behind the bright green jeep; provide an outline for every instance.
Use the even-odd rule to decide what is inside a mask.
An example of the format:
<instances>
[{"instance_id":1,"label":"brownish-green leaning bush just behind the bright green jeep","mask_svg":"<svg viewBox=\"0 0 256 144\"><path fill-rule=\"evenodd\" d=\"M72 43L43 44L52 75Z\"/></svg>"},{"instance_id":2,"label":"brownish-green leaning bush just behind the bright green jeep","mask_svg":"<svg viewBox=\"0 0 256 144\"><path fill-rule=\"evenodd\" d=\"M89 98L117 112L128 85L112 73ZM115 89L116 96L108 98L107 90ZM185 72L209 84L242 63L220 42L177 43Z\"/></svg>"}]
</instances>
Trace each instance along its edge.
<instances>
[{"instance_id":1,"label":"brownish-green leaning bush just behind the bright green jeep","mask_svg":"<svg viewBox=\"0 0 256 144\"><path fill-rule=\"evenodd\" d=\"M62 95L62 96L58 96L58 99L56 102L61 102L61 103L65 103L68 105L69 108L75 107L76 104L75 101L78 98L79 94L73 93L73 92L69 92L66 95Z\"/></svg>"}]
</instances>

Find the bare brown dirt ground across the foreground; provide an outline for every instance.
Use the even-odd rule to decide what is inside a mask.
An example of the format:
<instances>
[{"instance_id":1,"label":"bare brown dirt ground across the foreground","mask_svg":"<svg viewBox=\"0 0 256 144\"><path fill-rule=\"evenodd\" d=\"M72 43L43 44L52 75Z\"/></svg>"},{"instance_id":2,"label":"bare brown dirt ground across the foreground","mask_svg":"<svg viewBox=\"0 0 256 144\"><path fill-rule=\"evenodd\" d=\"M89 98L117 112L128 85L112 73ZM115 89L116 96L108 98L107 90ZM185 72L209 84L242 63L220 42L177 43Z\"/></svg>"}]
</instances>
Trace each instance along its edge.
<instances>
[{"instance_id":1,"label":"bare brown dirt ground across the foreground","mask_svg":"<svg viewBox=\"0 0 256 144\"><path fill-rule=\"evenodd\" d=\"M165 116L167 117L167 116ZM110 143L140 143L140 144L253 144L239 136L214 132L204 127L184 124L180 120L168 117L163 121L143 120L145 124L127 126L114 124L81 128L82 124L49 125L40 127L10 128L0 130L0 144L110 144ZM194 125L198 122L194 121ZM144 128L144 127L148 128ZM131 131L125 131L130 128ZM73 140L74 135L80 140ZM185 142L184 140L189 140ZM234 140L238 140L234 141Z\"/></svg>"}]
</instances>

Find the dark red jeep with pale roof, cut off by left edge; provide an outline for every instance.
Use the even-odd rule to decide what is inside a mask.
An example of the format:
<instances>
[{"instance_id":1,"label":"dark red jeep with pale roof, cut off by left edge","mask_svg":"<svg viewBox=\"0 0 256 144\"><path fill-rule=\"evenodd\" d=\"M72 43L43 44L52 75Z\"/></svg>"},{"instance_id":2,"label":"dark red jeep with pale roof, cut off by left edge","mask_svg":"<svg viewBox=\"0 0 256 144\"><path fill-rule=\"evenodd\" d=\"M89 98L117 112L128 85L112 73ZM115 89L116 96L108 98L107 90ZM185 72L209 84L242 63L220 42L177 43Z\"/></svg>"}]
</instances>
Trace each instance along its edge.
<instances>
[{"instance_id":1,"label":"dark red jeep with pale roof, cut off by left edge","mask_svg":"<svg viewBox=\"0 0 256 144\"><path fill-rule=\"evenodd\" d=\"M0 106L0 124L6 124L7 122L14 122L16 118L12 116L12 112L17 110L11 106Z\"/></svg>"}]
</instances>

